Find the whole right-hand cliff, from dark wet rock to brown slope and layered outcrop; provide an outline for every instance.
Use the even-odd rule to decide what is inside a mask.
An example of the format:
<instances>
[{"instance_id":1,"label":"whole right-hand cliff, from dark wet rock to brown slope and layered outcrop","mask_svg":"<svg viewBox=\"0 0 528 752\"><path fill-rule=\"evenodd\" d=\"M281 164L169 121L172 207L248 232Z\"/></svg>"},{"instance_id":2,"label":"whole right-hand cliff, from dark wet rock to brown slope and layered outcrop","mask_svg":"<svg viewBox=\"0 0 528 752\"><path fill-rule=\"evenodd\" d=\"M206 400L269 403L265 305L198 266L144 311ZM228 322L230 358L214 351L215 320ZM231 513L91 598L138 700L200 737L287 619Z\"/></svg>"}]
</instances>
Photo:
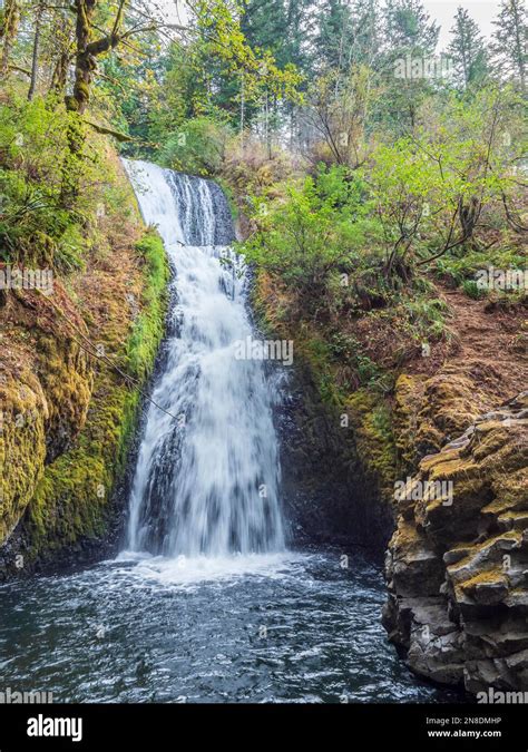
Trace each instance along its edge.
<instances>
[{"instance_id":1,"label":"whole right-hand cliff, from dark wet rock to brown slope and layered outcrop","mask_svg":"<svg viewBox=\"0 0 528 752\"><path fill-rule=\"evenodd\" d=\"M370 553L390 540L383 623L415 673L528 687L526 301L439 289L447 336L401 362L398 312L292 331L283 289L258 282L262 319L295 343L282 433L294 534ZM387 378L358 384L358 349Z\"/></svg>"}]
</instances>

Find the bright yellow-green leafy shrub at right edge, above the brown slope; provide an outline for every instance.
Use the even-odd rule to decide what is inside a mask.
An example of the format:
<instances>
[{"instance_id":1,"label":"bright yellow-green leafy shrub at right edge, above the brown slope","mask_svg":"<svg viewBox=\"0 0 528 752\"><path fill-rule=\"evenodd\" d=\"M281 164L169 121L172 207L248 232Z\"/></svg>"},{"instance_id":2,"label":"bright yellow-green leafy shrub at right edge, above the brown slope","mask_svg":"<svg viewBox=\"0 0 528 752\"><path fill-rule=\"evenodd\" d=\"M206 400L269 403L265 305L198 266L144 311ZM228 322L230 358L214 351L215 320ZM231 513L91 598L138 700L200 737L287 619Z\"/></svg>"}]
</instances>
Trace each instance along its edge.
<instances>
[{"instance_id":1,"label":"bright yellow-green leafy shrub at right edge, above the brown slope","mask_svg":"<svg viewBox=\"0 0 528 752\"><path fill-rule=\"evenodd\" d=\"M516 212L514 155L524 148L519 97L491 86L436 107L427 111L428 127L380 144L372 156L369 184L389 272L477 247L489 208L502 204ZM503 226L503 206L499 216Z\"/></svg>"}]
</instances>

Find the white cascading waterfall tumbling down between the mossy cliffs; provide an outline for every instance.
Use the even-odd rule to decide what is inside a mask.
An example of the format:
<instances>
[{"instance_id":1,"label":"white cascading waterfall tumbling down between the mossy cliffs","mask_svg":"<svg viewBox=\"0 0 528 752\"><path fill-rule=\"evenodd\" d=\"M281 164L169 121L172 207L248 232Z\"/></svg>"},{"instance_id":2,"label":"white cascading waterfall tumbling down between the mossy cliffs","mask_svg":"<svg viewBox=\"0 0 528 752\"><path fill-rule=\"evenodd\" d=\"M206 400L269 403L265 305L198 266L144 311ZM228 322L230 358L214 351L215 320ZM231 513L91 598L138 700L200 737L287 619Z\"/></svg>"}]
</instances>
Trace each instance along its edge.
<instances>
[{"instance_id":1,"label":"white cascading waterfall tumbling down between the mossy cliffs","mask_svg":"<svg viewBox=\"0 0 528 752\"><path fill-rule=\"evenodd\" d=\"M235 358L252 326L225 196L156 165L125 167L175 272L153 393L166 412L148 408L128 548L169 557L283 550L271 392L262 361Z\"/></svg>"}]
</instances>

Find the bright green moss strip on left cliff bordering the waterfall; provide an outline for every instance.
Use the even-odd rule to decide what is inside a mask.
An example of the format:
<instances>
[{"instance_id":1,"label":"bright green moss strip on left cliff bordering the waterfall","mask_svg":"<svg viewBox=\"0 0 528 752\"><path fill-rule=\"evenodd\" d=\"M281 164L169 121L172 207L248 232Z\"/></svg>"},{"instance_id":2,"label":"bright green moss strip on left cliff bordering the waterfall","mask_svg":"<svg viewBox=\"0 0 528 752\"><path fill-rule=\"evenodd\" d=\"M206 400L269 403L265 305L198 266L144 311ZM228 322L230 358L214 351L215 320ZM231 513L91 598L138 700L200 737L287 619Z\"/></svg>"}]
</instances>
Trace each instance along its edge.
<instances>
[{"instance_id":1,"label":"bright green moss strip on left cliff bordering the waterfall","mask_svg":"<svg viewBox=\"0 0 528 752\"><path fill-rule=\"evenodd\" d=\"M130 374L143 384L151 373L164 332L168 264L159 236L137 244L145 260L143 310L123 348ZM101 334L105 334L101 332ZM113 335L118 333L113 331ZM28 561L50 558L80 539L104 536L113 489L123 476L137 424L140 385L102 365L95 378L88 418L75 448L46 468L25 520Z\"/></svg>"}]
</instances>

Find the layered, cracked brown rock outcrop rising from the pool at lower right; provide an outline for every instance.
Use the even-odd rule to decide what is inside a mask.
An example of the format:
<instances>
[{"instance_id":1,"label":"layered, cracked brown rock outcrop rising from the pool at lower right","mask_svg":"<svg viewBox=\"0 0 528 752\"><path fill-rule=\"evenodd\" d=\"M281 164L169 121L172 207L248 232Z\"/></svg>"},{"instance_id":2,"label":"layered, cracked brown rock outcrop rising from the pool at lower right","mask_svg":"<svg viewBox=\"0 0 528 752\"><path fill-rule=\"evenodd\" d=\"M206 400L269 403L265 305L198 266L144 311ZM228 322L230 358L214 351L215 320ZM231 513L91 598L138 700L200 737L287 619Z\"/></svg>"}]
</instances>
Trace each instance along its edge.
<instances>
[{"instance_id":1,"label":"layered, cracked brown rock outcrop rising from the pool at lower right","mask_svg":"<svg viewBox=\"0 0 528 752\"><path fill-rule=\"evenodd\" d=\"M424 457L397 497L383 623L418 674L528 690L528 392Z\"/></svg>"}]
</instances>

